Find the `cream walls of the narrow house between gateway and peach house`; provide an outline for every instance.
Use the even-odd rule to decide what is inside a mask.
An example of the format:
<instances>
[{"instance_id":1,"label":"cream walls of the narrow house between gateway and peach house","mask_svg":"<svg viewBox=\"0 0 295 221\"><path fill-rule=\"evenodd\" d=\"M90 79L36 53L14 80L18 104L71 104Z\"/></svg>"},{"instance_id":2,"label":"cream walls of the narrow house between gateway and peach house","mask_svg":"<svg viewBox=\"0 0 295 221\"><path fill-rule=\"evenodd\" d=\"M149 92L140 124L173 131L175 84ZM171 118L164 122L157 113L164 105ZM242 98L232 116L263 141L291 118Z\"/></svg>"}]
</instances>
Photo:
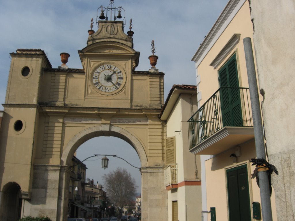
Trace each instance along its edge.
<instances>
[{"instance_id":1,"label":"cream walls of the narrow house between gateway and peach house","mask_svg":"<svg viewBox=\"0 0 295 221\"><path fill-rule=\"evenodd\" d=\"M201 180L200 157L188 151L187 120L194 111L196 111L196 94L180 94L167 119L167 137L175 136L178 179L178 188L168 190L169 221L172 220L173 214L172 201L177 201L179 221L201 220L201 186L196 184L187 186L185 183L185 181Z\"/></svg>"}]
</instances>

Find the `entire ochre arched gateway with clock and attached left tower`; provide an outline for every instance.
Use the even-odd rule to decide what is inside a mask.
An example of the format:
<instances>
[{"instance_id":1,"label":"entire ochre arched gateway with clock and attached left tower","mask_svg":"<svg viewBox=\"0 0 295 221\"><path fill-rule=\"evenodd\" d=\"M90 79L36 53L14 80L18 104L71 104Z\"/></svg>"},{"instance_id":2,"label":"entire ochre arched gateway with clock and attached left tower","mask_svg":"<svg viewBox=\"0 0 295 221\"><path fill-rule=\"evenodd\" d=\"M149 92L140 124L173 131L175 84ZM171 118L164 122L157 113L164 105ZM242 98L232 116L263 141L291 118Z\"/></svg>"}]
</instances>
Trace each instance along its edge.
<instances>
[{"instance_id":1,"label":"entire ochre arched gateway with clock and attached left tower","mask_svg":"<svg viewBox=\"0 0 295 221\"><path fill-rule=\"evenodd\" d=\"M165 123L158 117L164 74L155 68L135 71L139 52L123 22L99 21L79 51L83 69L68 68L66 53L58 68L40 49L10 55L0 220L42 215L65 221L71 158L97 136L119 137L133 146L141 162L142 220L167 220Z\"/></svg>"}]
</instances>

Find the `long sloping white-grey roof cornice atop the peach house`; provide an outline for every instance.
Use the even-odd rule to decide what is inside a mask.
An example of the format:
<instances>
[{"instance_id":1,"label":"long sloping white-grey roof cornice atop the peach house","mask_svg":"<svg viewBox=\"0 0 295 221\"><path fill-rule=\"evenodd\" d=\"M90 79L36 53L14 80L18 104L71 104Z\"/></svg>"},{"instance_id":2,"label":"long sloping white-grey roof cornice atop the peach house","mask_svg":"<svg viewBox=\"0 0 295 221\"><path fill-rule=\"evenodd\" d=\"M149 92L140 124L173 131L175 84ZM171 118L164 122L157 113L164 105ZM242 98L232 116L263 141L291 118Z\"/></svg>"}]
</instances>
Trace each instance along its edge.
<instances>
[{"instance_id":1,"label":"long sloping white-grey roof cornice atop the peach house","mask_svg":"<svg viewBox=\"0 0 295 221\"><path fill-rule=\"evenodd\" d=\"M218 17L217 21L207 34L205 40L202 42L201 46L192 58L192 61L196 62L196 67L199 66L201 61L207 55L207 53L212 48L217 39L220 37L220 35L223 33L223 31L226 29L228 24L230 24L230 22L235 17L235 15L240 10L245 1L246 0L230 0L227 3L224 10Z\"/></svg>"}]
</instances>

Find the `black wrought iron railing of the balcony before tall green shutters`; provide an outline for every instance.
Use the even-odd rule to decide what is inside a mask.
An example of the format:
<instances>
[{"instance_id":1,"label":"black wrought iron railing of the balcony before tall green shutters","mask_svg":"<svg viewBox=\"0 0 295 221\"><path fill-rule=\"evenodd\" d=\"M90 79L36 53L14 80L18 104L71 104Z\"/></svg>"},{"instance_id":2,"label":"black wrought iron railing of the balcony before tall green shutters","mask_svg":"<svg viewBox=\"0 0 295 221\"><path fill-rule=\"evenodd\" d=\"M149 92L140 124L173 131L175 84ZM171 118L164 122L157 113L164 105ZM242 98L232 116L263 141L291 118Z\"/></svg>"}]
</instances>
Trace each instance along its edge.
<instances>
[{"instance_id":1,"label":"black wrought iron railing of the balcony before tall green shutters","mask_svg":"<svg viewBox=\"0 0 295 221\"><path fill-rule=\"evenodd\" d=\"M252 127L249 88L221 87L188 120L189 149L223 127Z\"/></svg>"}]
</instances>

